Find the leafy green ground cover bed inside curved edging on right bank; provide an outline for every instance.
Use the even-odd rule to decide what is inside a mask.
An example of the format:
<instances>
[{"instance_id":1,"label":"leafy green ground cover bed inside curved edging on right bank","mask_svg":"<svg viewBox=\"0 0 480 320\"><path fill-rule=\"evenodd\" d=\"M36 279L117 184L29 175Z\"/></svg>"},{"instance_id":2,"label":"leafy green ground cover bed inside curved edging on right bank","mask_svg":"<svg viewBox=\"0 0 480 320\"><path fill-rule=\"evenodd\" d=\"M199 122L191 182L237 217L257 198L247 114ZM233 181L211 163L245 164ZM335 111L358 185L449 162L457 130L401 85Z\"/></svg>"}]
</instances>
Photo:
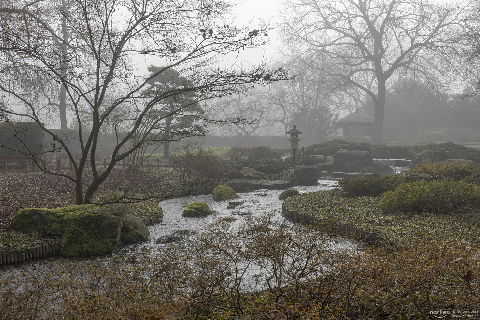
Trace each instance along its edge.
<instances>
[{"instance_id":1,"label":"leafy green ground cover bed inside curved edging on right bank","mask_svg":"<svg viewBox=\"0 0 480 320\"><path fill-rule=\"evenodd\" d=\"M382 212L378 205L380 197L346 198L339 190L302 193L288 198L284 210L312 215L325 231L344 226L375 233L394 242L413 243L426 236L445 243L462 238L465 244L480 244L480 212L472 210L465 221L459 219L464 213L440 215L435 213L389 213Z\"/></svg>"}]
</instances>

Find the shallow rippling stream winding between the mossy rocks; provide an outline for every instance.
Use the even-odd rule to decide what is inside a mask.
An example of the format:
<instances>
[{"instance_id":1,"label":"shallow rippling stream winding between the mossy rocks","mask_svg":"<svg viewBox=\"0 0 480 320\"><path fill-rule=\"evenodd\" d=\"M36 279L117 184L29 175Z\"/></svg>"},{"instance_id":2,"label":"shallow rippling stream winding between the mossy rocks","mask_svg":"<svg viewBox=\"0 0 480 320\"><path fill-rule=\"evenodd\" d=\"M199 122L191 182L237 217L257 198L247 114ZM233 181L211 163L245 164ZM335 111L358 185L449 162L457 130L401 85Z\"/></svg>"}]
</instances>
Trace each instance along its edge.
<instances>
[{"instance_id":1,"label":"shallow rippling stream winding between the mossy rocks","mask_svg":"<svg viewBox=\"0 0 480 320\"><path fill-rule=\"evenodd\" d=\"M393 167L396 172L403 171L402 167ZM295 186L294 188L300 193L312 192L318 190L330 190L335 188L336 180L319 180L316 186ZM293 222L284 218L281 207L282 201L278 200L280 193L283 190L255 190L252 192L238 193L239 199L235 201L241 201L240 205L234 209L227 209L228 201L213 201L211 194L191 195L181 198L174 198L161 201L159 205L163 210L163 219L160 223L149 226L151 241L145 242L141 245L125 246L121 251L128 251L130 255L135 255L136 252L142 250L144 247L150 247L153 251L156 248L169 245L168 242L175 241L180 245L188 246L189 238L196 237L202 233L202 230L220 219L234 217L235 221L231 222L232 227L240 226L247 221L247 217L255 218L260 217L266 213L272 213L272 222L284 224L285 227L289 227ZM182 217L182 212L185 206L192 202L206 202L212 214L204 217ZM232 219L233 220L233 219ZM357 244L355 241L348 239L332 239L329 246L336 248L355 248ZM105 257L93 258L105 259ZM0 279L10 278L12 275L23 273L24 271L36 270L42 272L44 266L48 261L58 258L50 258L48 260L32 261L24 264L11 265L0 268ZM78 259L77 261L92 261L92 258ZM261 271L257 266L249 268L248 272L244 275L243 283L246 286L245 289L259 289L265 286L260 279ZM260 280L259 280L260 279Z\"/></svg>"}]
</instances>

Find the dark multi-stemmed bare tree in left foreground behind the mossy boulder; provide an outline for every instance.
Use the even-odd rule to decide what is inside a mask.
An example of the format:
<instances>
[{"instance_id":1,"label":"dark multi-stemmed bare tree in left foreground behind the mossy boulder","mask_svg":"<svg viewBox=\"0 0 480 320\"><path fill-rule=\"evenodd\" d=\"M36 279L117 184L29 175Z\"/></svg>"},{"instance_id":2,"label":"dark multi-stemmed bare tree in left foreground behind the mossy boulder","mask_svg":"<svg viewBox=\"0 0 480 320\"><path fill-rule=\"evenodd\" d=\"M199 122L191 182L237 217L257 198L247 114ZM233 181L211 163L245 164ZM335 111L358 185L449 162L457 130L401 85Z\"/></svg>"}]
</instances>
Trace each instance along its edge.
<instances>
[{"instance_id":1,"label":"dark multi-stemmed bare tree in left foreground behind the mossy boulder","mask_svg":"<svg viewBox=\"0 0 480 320\"><path fill-rule=\"evenodd\" d=\"M195 125L180 128L179 137L204 135L213 121L241 122L242 119L214 118L203 107L201 112L186 111L194 103L233 93L242 93L253 83L269 83L287 79L283 70L272 70L265 64L237 70L219 67L228 64L229 53L246 47L263 45L268 27L232 25L231 6L216 0L69 0L64 15L69 36L64 37L62 24L51 18L52 9L61 11L61 4L48 0L2 2L0 7L0 90L4 104L0 113L12 126L19 119L29 120L45 130L56 142L44 152L64 150L72 162L73 174L46 172L64 176L76 185L77 204L92 203L93 195L108 177L115 164L130 156L157 132L157 124L174 115L195 118ZM57 6L57 7L55 7ZM52 20L53 19L53 20ZM67 40L65 40L67 39ZM59 46L60 44L60 46ZM60 49L62 47L62 49ZM164 67L141 74L138 58L158 59ZM63 72L60 61L68 68ZM164 86L155 95L145 95L156 77L175 69L189 83ZM25 90L28 70L45 82L63 86L68 104L79 128L81 156L73 158L68 140L55 135L46 126L50 120L38 109L38 100ZM192 95L192 104L183 103L158 115L134 144L133 136L159 104L170 99ZM108 99L109 96L115 97ZM48 99L45 95L43 99ZM8 102L8 103L7 103ZM134 110L122 117L119 110ZM91 130L84 130L81 115L88 114ZM132 114L134 113L134 116ZM118 121L112 121L112 118ZM121 121L120 121L121 120ZM111 161L103 172L96 167L99 132L106 126L122 124L122 134L109 153ZM52 143L53 144L53 143ZM34 152L25 152L38 166ZM89 162L93 179L84 189L85 165Z\"/></svg>"}]
</instances>

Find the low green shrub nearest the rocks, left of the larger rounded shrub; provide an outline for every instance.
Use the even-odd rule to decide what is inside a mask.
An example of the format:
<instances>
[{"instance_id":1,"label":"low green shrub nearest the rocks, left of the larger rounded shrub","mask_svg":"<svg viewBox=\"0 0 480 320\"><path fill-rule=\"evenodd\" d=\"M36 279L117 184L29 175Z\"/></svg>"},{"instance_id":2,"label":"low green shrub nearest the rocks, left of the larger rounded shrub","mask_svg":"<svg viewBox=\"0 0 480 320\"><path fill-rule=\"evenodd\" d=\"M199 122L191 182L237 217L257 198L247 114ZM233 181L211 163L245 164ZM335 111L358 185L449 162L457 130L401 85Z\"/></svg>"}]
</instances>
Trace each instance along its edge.
<instances>
[{"instance_id":1,"label":"low green shrub nearest the rocks, left of the larger rounded shrub","mask_svg":"<svg viewBox=\"0 0 480 320\"><path fill-rule=\"evenodd\" d=\"M379 175L356 179L344 178L337 181L338 187L348 197L378 197L385 191L396 189L402 183L405 183L405 179L399 175Z\"/></svg>"}]
</instances>

